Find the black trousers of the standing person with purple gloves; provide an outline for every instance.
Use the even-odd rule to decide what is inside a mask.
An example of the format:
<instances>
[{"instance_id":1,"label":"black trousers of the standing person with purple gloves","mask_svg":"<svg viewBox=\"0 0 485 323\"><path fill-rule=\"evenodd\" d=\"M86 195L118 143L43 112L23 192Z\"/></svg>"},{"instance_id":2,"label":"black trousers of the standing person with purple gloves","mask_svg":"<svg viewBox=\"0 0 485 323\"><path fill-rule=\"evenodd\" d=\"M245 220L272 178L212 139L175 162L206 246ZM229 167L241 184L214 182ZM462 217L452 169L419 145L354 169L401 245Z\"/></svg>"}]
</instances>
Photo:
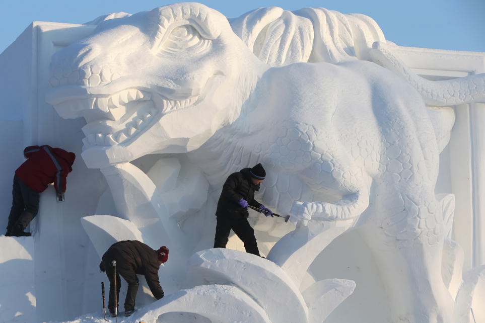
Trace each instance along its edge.
<instances>
[{"instance_id":1,"label":"black trousers of the standing person with purple gloves","mask_svg":"<svg viewBox=\"0 0 485 323\"><path fill-rule=\"evenodd\" d=\"M226 248L231 229L243 241L244 249L246 249L247 253L260 256L256 237L254 236L254 229L249 224L247 218L233 220L218 216L214 248Z\"/></svg>"}]
</instances>

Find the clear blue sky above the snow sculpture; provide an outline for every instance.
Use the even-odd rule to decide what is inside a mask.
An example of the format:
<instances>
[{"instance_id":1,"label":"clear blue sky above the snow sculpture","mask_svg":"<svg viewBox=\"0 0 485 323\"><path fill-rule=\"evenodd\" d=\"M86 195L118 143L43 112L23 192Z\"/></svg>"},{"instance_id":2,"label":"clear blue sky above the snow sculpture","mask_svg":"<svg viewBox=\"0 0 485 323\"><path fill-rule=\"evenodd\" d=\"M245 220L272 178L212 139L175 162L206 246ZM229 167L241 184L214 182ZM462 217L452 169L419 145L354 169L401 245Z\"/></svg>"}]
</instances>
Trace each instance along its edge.
<instances>
[{"instance_id":1,"label":"clear blue sky above the snow sculpture","mask_svg":"<svg viewBox=\"0 0 485 323\"><path fill-rule=\"evenodd\" d=\"M323 7L372 17L386 39L400 45L485 52L485 0L202 0L228 18L259 7ZM82 24L104 14L134 14L164 0L13 0L0 6L0 52L33 21Z\"/></svg>"}]
</instances>

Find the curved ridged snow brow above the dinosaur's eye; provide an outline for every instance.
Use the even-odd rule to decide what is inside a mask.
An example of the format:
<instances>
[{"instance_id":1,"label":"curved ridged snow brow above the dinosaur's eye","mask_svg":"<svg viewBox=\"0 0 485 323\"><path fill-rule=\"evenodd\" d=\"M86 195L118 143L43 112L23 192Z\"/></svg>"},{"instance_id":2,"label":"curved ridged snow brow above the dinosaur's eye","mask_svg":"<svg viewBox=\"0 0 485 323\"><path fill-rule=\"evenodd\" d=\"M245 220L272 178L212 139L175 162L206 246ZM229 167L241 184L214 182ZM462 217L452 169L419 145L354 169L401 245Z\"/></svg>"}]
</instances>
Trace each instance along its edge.
<instances>
[{"instance_id":1,"label":"curved ridged snow brow above the dinosaur's eye","mask_svg":"<svg viewBox=\"0 0 485 323\"><path fill-rule=\"evenodd\" d=\"M192 33L198 34L202 40L214 40L221 34L222 26L228 25L221 13L198 3L155 8L149 13L149 23L152 51L163 47L177 27L190 26L185 29L195 31Z\"/></svg>"}]
</instances>

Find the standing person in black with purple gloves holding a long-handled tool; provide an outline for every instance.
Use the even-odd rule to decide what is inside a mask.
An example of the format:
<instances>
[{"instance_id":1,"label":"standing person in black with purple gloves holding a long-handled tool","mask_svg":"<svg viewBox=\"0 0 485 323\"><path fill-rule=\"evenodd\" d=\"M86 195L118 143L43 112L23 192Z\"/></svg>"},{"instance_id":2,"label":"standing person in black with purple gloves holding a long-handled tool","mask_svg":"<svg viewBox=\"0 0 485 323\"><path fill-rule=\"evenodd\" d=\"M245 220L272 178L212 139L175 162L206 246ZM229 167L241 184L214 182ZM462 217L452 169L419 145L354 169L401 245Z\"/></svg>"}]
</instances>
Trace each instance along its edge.
<instances>
[{"instance_id":1,"label":"standing person in black with purple gloves holding a long-handled tool","mask_svg":"<svg viewBox=\"0 0 485 323\"><path fill-rule=\"evenodd\" d=\"M261 209L266 216L272 216L270 209L254 199L254 191L266 177L261 164L244 168L229 175L217 203L216 237L214 248L226 248L231 229L243 241L247 253L259 256L254 229L248 222L248 205Z\"/></svg>"}]
</instances>

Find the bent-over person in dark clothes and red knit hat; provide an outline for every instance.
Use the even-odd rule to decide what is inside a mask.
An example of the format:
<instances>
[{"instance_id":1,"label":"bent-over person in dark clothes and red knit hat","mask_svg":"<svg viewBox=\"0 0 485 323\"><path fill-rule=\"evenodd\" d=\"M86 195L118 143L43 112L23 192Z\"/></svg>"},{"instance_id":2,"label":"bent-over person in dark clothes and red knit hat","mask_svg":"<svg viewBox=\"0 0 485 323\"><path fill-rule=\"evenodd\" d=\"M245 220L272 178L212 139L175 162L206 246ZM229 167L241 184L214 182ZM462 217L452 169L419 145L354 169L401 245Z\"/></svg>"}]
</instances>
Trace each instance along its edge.
<instances>
[{"instance_id":1,"label":"bent-over person in dark clothes and red knit hat","mask_svg":"<svg viewBox=\"0 0 485 323\"><path fill-rule=\"evenodd\" d=\"M148 287L156 299L163 297L163 289L160 286L158 270L160 265L168 260L168 249L163 246L159 250L153 250L149 246L137 240L119 241L104 253L99 268L106 271L109 280L109 301L108 308L111 316L115 316L114 300L114 268L113 260L116 261L116 299L119 301L119 290L121 277L128 283L126 299L124 302L125 315L129 316L134 311L136 293L138 292L138 277L144 275Z\"/></svg>"}]
</instances>

